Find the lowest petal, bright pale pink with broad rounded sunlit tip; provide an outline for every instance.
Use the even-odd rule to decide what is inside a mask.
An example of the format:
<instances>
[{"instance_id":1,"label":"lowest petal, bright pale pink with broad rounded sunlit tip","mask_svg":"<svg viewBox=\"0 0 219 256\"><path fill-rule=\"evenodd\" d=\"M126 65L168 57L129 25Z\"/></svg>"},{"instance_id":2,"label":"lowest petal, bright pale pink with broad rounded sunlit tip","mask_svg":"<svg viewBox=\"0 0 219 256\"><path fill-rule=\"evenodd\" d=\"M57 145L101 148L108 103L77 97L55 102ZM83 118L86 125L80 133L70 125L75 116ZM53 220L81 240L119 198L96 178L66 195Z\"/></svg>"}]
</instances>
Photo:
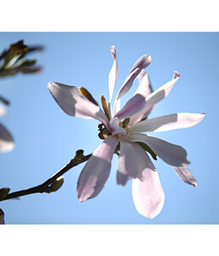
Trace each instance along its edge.
<instances>
[{"instance_id":1,"label":"lowest petal, bright pale pink with broad rounded sunlit tip","mask_svg":"<svg viewBox=\"0 0 219 256\"><path fill-rule=\"evenodd\" d=\"M141 148L143 151L143 149ZM141 177L132 181L132 197L137 212L147 218L154 218L164 207L164 190L158 172L148 155L138 155L139 165L143 166Z\"/></svg>"}]
</instances>

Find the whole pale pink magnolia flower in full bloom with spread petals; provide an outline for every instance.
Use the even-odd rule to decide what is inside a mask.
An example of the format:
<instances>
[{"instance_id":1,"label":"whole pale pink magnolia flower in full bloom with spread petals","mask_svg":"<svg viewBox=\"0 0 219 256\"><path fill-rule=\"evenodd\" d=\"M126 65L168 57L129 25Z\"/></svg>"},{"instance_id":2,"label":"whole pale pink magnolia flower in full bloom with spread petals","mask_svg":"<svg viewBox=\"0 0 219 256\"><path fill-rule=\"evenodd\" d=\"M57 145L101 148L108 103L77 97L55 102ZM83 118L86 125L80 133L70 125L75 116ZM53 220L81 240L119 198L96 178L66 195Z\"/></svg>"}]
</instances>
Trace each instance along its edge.
<instances>
[{"instance_id":1,"label":"whole pale pink magnolia flower in full bloom with spread petals","mask_svg":"<svg viewBox=\"0 0 219 256\"><path fill-rule=\"evenodd\" d=\"M186 183L197 185L195 177L187 165L187 151L175 144L167 143L158 137L142 134L147 131L170 131L198 124L205 114L172 113L154 119L146 119L156 103L164 99L176 84L180 74L175 72L173 79L152 92L150 82L143 70L150 64L151 56L142 55L125 79L118 91L112 108L112 95L118 75L118 61L114 46L111 47L112 69L108 77L109 101L101 96L104 112L89 92L55 82L49 82L48 88L55 102L67 114L84 119L97 119L99 137L103 143L95 149L78 177L78 200L94 198L101 192L110 174L112 155L118 154L117 183L124 185L130 178L132 195L136 210L147 218L154 218L164 206L164 191L158 172L147 152L160 157L173 166L177 175ZM130 90L138 77L140 84L135 95L120 108L120 98ZM146 152L147 151L147 152Z\"/></svg>"}]
</instances>

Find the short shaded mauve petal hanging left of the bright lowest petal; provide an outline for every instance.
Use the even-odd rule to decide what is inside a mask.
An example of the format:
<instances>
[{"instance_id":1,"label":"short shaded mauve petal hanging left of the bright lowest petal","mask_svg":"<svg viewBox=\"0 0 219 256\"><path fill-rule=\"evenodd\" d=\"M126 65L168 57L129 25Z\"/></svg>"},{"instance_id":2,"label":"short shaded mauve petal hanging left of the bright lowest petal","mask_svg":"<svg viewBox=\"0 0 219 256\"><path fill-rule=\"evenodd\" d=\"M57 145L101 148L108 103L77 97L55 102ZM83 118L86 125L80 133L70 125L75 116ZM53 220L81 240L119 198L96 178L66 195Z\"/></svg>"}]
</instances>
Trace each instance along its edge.
<instances>
[{"instance_id":1,"label":"short shaded mauve petal hanging left of the bright lowest petal","mask_svg":"<svg viewBox=\"0 0 219 256\"><path fill-rule=\"evenodd\" d=\"M117 183L125 185L129 177L139 176L140 167L137 161L138 157L135 148L140 146L135 146L136 143L130 143L124 139L118 139L118 141L120 143L120 154L118 157ZM141 151L141 149L139 150ZM143 149L142 151L144 153Z\"/></svg>"}]
</instances>

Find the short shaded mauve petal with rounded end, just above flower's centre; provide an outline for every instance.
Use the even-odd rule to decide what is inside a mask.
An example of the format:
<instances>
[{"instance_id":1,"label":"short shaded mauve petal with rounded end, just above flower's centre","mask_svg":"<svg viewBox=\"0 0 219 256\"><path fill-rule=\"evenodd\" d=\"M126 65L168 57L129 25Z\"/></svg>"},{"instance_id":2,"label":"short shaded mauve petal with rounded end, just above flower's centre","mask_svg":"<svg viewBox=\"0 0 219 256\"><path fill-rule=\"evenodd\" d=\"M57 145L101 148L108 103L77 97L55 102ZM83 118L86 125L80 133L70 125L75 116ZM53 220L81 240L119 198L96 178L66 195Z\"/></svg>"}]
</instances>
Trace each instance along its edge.
<instances>
[{"instance_id":1,"label":"short shaded mauve petal with rounded end, just above flower's centre","mask_svg":"<svg viewBox=\"0 0 219 256\"><path fill-rule=\"evenodd\" d=\"M130 101L128 101L124 108L122 108L116 115L119 120L125 119L125 118L131 118L136 113L141 111L142 108L145 106L145 98L141 96L140 94L136 94L132 98L130 98ZM132 119L132 118L131 118ZM131 121L130 119L130 121Z\"/></svg>"}]
</instances>

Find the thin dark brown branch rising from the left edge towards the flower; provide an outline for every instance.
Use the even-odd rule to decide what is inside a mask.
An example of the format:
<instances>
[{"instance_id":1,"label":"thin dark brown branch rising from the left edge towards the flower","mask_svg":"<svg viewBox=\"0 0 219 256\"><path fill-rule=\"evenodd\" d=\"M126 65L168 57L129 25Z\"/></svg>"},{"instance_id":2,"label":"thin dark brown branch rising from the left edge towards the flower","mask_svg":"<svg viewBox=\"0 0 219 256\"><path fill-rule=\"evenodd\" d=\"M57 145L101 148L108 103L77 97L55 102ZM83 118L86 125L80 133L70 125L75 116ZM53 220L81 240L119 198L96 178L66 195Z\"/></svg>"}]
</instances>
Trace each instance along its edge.
<instances>
[{"instance_id":1,"label":"thin dark brown branch rising from the left edge towards the flower","mask_svg":"<svg viewBox=\"0 0 219 256\"><path fill-rule=\"evenodd\" d=\"M31 189L24 189L24 190L16 191L13 193L9 193L3 199L3 201L12 199L12 198L17 198L17 197L20 197L23 195L30 195L30 194L35 194L35 193L46 192L46 189L48 189L49 185L51 183L54 183L58 177L61 177L61 175L63 175L64 173L66 173L67 171L72 169L72 167L78 166L79 164L82 164L85 161L89 160L89 157L92 155L92 154L88 154L88 155L84 156L83 153L84 153L84 150L76 151L75 156L72 158L72 160L66 166L64 166L59 172L56 172L52 177L49 177L49 179L47 181L45 181L44 183L42 183L41 185L32 187Z\"/></svg>"}]
</instances>

